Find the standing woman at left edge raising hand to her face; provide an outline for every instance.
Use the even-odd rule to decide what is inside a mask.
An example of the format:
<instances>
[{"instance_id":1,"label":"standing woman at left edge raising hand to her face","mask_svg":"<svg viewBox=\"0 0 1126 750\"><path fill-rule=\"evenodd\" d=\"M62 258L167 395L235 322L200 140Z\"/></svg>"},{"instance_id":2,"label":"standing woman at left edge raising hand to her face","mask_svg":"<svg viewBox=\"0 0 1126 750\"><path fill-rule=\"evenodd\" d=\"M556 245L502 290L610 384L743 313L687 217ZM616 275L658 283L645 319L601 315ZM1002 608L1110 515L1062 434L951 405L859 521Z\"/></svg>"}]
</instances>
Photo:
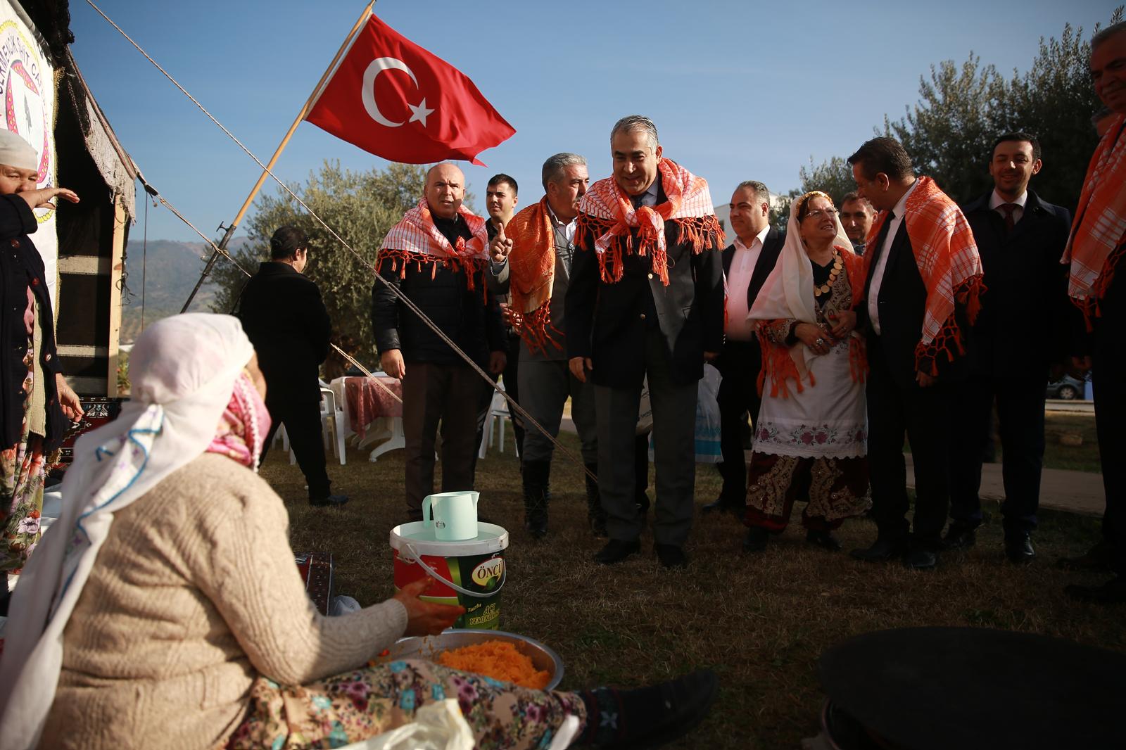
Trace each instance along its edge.
<instances>
[{"instance_id":1,"label":"standing woman at left edge raising hand to her face","mask_svg":"<svg viewBox=\"0 0 1126 750\"><path fill-rule=\"evenodd\" d=\"M82 416L59 367L43 257L28 236L38 229L34 208L78 196L38 189L38 164L27 141L0 128L0 614L8 574L20 572L39 538L45 457L62 443L68 419Z\"/></svg>"}]
</instances>

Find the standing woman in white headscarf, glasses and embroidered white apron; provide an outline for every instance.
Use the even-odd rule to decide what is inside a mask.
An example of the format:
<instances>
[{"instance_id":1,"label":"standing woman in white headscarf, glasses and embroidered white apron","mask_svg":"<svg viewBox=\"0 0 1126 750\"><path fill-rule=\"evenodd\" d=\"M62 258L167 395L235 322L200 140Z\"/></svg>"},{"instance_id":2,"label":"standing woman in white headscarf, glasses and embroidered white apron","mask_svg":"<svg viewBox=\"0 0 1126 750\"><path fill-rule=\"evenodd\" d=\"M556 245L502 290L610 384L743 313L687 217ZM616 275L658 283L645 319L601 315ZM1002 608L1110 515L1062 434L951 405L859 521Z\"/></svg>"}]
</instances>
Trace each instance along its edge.
<instances>
[{"instance_id":1,"label":"standing woman in white headscarf, glasses and embroidered white apron","mask_svg":"<svg viewBox=\"0 0 1126 750\"><path fill-rule=\"evenodd\" d=\"M832 529L868 507L864 339L856 312L864 265L832 199L794 200L786 243L749 318L762 345L743 547L765 550L798 499L806 542L840 550Z\"/></svg>"}]
</instances>

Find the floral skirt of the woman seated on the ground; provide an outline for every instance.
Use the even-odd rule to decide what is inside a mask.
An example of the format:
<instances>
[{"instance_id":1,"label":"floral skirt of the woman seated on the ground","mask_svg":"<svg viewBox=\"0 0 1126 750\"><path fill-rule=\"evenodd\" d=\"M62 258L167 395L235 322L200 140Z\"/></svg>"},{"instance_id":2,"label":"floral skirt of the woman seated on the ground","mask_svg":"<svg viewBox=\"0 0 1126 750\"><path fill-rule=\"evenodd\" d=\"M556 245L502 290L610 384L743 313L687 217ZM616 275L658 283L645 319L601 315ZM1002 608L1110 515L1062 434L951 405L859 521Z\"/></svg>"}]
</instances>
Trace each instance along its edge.
<instances>
[{"instance_id":1,"label":"floral skirt of the woman seated on the ground","mask_svg":"<svg viewBox=\"0 0 1126 750\"><path fill-rule=\"evenodd\" d=\"M547 693L421 660L364 667L311 685L259 677L250 708L226 742L249 748L340 748L413 721L428 702L456 698L482 750L547 748L570 716L586 718L574 693Z\"/></svg>"}]
</instances>

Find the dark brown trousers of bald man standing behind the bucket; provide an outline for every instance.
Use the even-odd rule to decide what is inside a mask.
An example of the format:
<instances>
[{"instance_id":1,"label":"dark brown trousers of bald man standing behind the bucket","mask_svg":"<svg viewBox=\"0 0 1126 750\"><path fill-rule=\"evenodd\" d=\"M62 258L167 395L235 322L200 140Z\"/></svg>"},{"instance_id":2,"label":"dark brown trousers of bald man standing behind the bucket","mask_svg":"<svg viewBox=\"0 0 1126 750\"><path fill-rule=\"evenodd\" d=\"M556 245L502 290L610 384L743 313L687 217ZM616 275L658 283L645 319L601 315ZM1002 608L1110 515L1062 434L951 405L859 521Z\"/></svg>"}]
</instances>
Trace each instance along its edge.
<instances>
[{"instance_id":1,"label":"dark brown trousers of bald man standing behind the bucket","mask_svg":"<svg viewBox=\"0 0 1126 750\"><path fill-rule=\"evenodd\" d=\"M473 489L481 376L468 365L408 361L403 376L406 510L421 518L434 493L434 444L441 422L441 491Z\"/></svg>"}]
</instances>

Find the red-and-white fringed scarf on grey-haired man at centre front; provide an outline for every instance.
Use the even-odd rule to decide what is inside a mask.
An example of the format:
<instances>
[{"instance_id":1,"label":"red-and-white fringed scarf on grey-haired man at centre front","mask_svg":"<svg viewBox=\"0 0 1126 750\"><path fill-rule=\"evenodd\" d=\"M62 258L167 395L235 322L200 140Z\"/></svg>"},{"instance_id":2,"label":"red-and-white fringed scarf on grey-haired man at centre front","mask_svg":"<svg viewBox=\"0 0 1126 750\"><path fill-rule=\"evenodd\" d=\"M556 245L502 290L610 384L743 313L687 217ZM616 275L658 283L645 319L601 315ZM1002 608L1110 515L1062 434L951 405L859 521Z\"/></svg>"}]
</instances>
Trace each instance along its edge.
<instances>
[{"instance_id":1,"label":"red-and-white fringed scarf on grey-haired man at centre front","mask_svg":"<svg viewBox=\"0 0 1126 750\"><path fill-rule=\"evenodd\" d=\"M575 240L582 250L598 253L598 269L608 284L622 280L622 259L634 253L651 256L653 273L669 285L665 222L677 225L677 242L691 242L694 253L723 247L723 230L712 207L707 180L668 159L658 161L656 168L668 196L659 206L634 208L613 177L591 185L579 204ZM637 230L636 247L632 229ZM588 234L593 238L593 248L588 247Z\"/></svg>"}]
</instances>

